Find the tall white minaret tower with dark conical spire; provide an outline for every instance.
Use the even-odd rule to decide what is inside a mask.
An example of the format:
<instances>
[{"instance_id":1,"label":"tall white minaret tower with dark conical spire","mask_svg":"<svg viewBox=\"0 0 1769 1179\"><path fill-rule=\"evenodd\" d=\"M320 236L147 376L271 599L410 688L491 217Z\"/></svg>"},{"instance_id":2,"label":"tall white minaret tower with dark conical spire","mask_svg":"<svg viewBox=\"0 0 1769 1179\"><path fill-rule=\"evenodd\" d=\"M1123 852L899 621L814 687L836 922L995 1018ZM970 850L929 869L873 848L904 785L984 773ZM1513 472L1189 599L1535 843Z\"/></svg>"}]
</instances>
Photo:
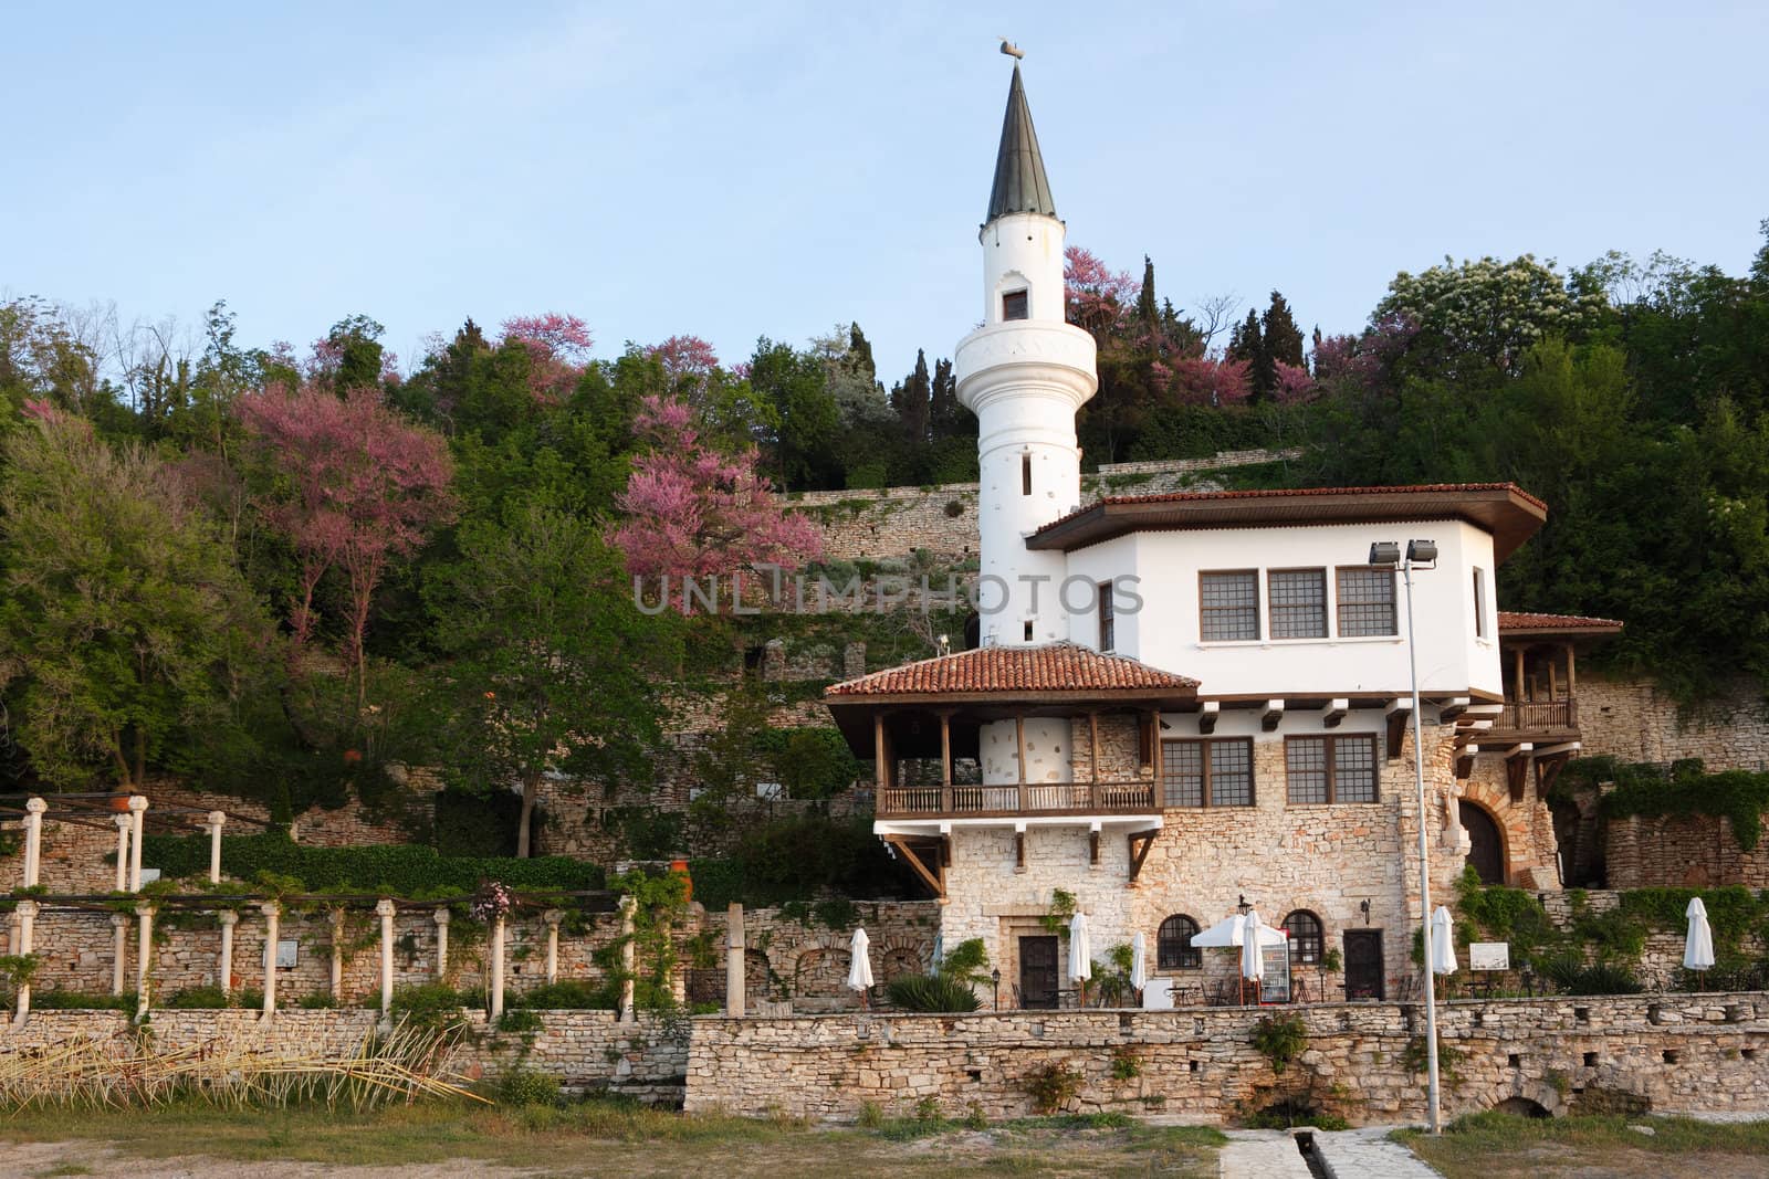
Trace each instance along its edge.
<instances>
[{"instance_id":1,"label":"tall white minaret tower with dark conical spire","mask_svg":"<svg viewBox=\"0 0 1769 1179\"><path fill-rule=\"evenodd\" d=\"M1007 49L1003 49L1007 51ZM1081 504L1076 410L1099 389L1093 338L1063 320L1063 223L1056 217L1031 110L1014 64L996 152L984 247L984 325L953 357L959 401L976 414L980 465L982 643L1017 647L1068 638L1067 557L1030 551L1026 536ZM982 730L985 783L1019 778L1014 721ZM1070 778L1068 721L1026 721L1026 781Z\"/></svg>"}]
</instances>

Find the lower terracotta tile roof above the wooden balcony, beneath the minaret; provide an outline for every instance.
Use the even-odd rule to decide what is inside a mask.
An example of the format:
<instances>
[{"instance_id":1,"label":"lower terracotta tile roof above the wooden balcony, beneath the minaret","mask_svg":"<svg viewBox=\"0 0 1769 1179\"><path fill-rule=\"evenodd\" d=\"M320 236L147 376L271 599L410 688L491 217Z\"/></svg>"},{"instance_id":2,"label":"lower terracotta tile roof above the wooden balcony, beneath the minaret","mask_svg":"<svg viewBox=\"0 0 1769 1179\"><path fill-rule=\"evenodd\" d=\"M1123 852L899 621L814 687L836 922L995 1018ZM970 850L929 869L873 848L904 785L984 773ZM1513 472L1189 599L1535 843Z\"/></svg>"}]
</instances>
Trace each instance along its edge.
<instances>
[{"instance_id":1,"label":"lower terracotta tile roof above the wooden balcony, beneath the minaret","mask_svg":"<svg viewBox=\"0 0 1769 1179\"><path fill-rule=\"evenodd\" d=\"M1198 681L1077 643L980 647L844 681L824 695L923 696L1015 691L1192 691Z\"/></svg>"}]
</instances>

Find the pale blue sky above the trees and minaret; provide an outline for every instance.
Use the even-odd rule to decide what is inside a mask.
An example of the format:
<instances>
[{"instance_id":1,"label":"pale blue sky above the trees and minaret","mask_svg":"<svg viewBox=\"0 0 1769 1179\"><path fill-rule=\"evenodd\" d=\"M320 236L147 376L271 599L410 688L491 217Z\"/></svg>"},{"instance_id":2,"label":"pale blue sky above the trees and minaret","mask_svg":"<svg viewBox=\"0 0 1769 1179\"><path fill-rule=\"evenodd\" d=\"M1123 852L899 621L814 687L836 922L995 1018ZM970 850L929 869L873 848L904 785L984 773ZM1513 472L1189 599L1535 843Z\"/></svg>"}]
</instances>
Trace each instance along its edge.
<instances>
[{"instance_id":1,"label":"pale blue sky above the trees and minaret","mask_svg":"<svg viewBox=\"0 0 1769 1179\"><path fill-rule=\"evenodd\" d=\"M1352 331L1396 270L1652 249L1769 217L1762 4L21 4L0 292L216 299L407 362L571 311L727 361L858 320L890 382L976 318L1008 60L1070 242L1178 306Z\"/></svg>"}]
</instances>

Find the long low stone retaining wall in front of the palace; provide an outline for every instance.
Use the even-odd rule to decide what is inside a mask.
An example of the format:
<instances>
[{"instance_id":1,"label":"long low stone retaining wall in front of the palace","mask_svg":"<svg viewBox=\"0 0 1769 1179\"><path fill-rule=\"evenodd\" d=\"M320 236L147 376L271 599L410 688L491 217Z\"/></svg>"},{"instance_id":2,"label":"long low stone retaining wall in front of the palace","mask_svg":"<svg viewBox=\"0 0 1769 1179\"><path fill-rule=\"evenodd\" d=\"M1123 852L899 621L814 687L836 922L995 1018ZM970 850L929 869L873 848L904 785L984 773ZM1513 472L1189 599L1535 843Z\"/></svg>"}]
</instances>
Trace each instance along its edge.
<instances>
[{"instance_id":1,"label":"long low stone retaining wall in front of the palace","mask_svg":"<svg viewBox=\"0 0 1769 1179\"><path fill-rule=\"evenodd\" d=\"M1424 1013L1413 1004L1325 1004L1297 1009L1307 1048L1283 1075L1252 1048L1268 1011L1047 1011L693 1022L690 1112L853 1119L865 1105L909 1115L930 1099L948 1117L1033 1112L1033 1069L1081 1075L1070 1110L1164 1112L1233 1122L1286 1094L1307 1094L1352 1122L1424 1117L1419 1053ZM1550 1114L1608 1092L1656 1110L1769 1112L1769 995L1594 997L1451 1002L1442 1041L1459 1052L1445 1069L1449 1115L1507 1098ZM1137 1075L1114 1080L1114 1062ZM1123 1069L1120 1069L1123 1071Z\"/></svg>"}]
</instances>

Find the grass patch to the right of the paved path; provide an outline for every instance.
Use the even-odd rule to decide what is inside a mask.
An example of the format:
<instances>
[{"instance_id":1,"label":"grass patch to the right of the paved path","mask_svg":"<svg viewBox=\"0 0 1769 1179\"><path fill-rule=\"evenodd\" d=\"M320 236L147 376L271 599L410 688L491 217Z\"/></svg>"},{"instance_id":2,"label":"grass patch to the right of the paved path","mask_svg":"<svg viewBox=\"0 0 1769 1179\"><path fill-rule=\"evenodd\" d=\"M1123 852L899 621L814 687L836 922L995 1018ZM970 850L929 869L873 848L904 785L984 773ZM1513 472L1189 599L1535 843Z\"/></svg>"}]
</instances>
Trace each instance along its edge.
<instances>
[{"instance_id":1,"label":"grass patch to the right of the paved path","mask_svg":"<svg viewBox=\"0 0 1769 1179\"><path fill-rule=\"evenodd\" d=\"M1629 1126L1650 1126L1643 1135ZM1689 1117L1544 1117L1488 1110L1451 1122L1440 1138L1398 1130L1419 1158L1449 1179L1495 1174L1652 1174L1629 1160L1647 1156L1769 1158L1769 1121L1700 1122ZM1668 1174L1659 1170L1658 1174Z\"/></svg>"}]
</instances>

